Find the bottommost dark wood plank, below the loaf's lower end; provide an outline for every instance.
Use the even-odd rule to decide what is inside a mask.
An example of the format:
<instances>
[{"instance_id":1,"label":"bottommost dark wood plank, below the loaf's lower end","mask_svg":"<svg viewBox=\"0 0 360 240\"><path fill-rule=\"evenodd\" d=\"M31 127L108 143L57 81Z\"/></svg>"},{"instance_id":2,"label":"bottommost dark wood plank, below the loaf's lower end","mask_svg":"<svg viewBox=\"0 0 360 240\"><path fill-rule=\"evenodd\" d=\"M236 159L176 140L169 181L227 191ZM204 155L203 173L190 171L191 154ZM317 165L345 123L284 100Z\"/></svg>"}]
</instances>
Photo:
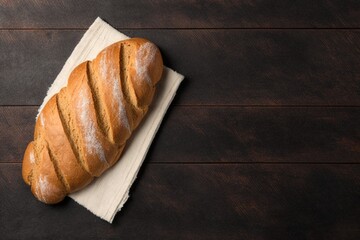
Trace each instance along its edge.
<instances>
[{"instance_id":1,"label":"bottommost dark wood plank, below the loaf's lower end","mask_svg":"<svg viewBox=\"0 0 360 240\"><path fill-rule=\"evenodd\" d=\"M360 165L145 165L113 225L0 164L4 239L359 239Z\"/></svg>"}]
</instances>

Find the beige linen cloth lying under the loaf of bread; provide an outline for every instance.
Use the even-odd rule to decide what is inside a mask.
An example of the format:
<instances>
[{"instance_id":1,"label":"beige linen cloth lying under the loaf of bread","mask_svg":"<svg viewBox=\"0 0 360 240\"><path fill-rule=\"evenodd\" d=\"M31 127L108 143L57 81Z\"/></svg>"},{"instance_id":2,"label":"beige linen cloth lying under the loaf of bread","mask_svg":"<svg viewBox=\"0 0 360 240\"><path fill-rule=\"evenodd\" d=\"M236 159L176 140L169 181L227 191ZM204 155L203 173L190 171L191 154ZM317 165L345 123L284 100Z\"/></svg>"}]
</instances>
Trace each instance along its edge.
<instances>
[{"instance_id":1,"label":"beige linen cloth lying under the loaf of bread","mask_svg":"<svg viewBox=\"0 0 360 240\"><path fill-rule=\"evenodd\" d=\"M94 59L110 44L127 38L126 35L97 18L85 32L51 85L39 112L51 96L67 84L67 79L74 67L83 61ZM116 213L129 198L130 187L183 78L184 76L165 67L153 103L142 123L127 142L119 162L89 186L71 194L72 199L96 216L110 223L113 221Z\"/></svg>"}]
</instances>

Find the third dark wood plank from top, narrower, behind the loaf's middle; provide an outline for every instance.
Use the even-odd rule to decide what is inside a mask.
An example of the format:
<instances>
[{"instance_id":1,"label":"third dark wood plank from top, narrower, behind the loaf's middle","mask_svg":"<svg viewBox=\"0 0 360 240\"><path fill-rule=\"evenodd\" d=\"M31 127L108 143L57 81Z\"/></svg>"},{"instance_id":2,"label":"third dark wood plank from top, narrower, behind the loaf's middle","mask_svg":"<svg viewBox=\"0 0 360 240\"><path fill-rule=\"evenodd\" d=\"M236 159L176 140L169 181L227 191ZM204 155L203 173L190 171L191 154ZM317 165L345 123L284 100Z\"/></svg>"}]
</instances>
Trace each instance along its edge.
<instances>
[{"instance_id":1,"label":"third dark wood plank from top, narrower, behind the loaf's middle","mask_svg":"<svg viewBox=\"0 0 360 240\"><path fill-rule=\"evenodd\" d=\"M21 162L37 107L0 107L0 162ZM171 107L146 161L359 163L360 108Z\"/></svg>"}]
</instances>

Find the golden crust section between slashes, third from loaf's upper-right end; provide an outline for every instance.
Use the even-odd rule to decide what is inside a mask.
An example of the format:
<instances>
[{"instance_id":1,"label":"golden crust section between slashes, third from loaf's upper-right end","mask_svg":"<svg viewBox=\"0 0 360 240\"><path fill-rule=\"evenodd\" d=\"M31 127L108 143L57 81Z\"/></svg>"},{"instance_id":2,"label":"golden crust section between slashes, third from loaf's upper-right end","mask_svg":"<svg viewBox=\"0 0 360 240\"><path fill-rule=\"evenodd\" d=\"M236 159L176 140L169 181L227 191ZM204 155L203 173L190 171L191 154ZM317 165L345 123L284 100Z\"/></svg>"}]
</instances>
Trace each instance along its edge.
<instances>
[{"instance_id":1,"label":"golden crust section between slashes, third from loaf's upper-right end","mask_svg":"<svg viewBox=\"0 0 360 240\"><path fill-rule=\"evenodd\" d=\"M58 94L61 114L80 161L91 176L100 176L108 167L114 146L103 136L97 122L92 93L88 85L87 62L80 64Z\"/></svg>"}]
</instances>

